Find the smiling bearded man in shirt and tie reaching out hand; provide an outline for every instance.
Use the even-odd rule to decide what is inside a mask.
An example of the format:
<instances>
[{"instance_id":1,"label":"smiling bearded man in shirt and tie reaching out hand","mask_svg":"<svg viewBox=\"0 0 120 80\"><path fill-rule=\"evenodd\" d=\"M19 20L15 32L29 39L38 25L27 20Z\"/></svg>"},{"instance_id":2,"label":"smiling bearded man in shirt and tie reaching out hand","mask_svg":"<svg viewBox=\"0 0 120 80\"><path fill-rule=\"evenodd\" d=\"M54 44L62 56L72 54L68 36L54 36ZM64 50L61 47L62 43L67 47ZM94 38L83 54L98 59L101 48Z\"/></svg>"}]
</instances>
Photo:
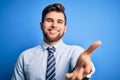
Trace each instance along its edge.
<instances>
[{"instance_id":1,"label":"smiling bearded man in shirt and tie reaching out hand","mask_svg":"<svg viewBox=\"0 0 120 80\"><path fill-rule=\"evenodd\" d=\"M24 51L15 66L12 80L88 80L95 71L90 60L92 51L101 42L87 50L67 45L62 41L66 27L64 6L48 5L40 23L43 42Z\"/></svg>"}]
</instances>

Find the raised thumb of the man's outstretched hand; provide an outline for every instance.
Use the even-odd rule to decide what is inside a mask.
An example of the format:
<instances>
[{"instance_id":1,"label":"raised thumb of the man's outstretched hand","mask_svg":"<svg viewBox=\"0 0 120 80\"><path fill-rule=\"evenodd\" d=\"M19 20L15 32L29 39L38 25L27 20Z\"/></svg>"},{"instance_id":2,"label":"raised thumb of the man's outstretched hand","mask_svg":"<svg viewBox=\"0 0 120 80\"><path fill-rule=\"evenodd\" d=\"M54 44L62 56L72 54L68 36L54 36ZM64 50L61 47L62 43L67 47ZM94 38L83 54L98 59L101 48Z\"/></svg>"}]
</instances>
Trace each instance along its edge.
<instances>
[{"instance_id":1,"label":"raised thumb of the man's outstretched hand","mask_svg":"<svg viewBox=\"0 0 120 80\"><path fill-rule=\"evenodd\" d=\"M87 55L91 55L92 52L101 45L101 41L96 41L94 42L92 45L90 45L90 47L86 50L86 54Z\"/></svg>"}]
</instances>

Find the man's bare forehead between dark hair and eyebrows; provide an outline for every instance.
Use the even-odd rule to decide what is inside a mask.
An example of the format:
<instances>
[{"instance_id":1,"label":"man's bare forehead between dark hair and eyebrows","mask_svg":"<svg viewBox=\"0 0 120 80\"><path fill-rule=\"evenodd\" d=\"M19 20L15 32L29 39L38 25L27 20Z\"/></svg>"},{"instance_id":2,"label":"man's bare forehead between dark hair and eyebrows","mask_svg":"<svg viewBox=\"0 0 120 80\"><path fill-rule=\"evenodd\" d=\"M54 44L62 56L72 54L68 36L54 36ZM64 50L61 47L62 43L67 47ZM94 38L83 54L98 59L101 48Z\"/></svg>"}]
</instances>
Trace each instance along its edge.
<instances>
[{"instance_id":1,"label":"man's bare forehead between dark hair and eyebrows","mask_svg":"<svg viewBox=\"0 0 120 80\"><path fill-rule=\"evenodd\" d=\"M65 20L64 14L62 12L56 12L56 11L51 11L46 14L45 18L52 18L52 19L60 19L60 20Z\"/></svg>"}]
</instances>

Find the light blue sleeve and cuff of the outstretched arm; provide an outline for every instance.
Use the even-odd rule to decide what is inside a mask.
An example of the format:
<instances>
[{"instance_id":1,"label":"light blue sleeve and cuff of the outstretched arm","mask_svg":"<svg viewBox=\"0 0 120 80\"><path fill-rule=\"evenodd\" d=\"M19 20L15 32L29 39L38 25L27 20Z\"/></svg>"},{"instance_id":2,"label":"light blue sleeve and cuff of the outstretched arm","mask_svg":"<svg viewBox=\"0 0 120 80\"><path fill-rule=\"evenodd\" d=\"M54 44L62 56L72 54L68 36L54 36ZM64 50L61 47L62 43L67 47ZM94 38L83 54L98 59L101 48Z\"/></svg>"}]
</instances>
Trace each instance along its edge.
<instances>
[{"instance_id":1,"label":"light blue sleeve and cuff of the outstretched arm","mask_svg":"<svg viewBox=\"0 0 120 80\"><path fill-rule=\"evenodd\" d=\"M84 49L82 47L79 47L79 46L73 46L73 49L74 49L73 55L71 57L71 68L72 68L71 70L74 69L78 57L84 51ZM91 65L92 65L92 72L87 75L87 78L90 78L93 75L93 73L95 72L95 67L94 67L94 64L92 63L92 61L91 61Z\"/></svg>"}]
</instances>

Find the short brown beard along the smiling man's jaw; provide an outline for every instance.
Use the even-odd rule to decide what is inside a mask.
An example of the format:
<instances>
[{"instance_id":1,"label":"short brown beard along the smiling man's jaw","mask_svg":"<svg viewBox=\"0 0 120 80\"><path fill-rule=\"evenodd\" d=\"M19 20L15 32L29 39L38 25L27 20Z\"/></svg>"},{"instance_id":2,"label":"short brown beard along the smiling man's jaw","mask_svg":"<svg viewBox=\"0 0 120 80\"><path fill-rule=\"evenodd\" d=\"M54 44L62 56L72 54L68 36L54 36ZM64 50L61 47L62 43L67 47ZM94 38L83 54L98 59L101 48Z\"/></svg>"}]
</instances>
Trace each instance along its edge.
<instances>
[{"instance_id":1,"label":"short brown beard along the smiling man's jaw","mask_svg":"<svg viewBox=\"0 0 120 80\"><path fill-rule=\"evenodd\" d=\"M56 37L51 37L49 36L48 33L46 33L44 30L42 30L43 32L43 35L44 35L44 38L48 41L48 42L56 42L56 41L59 41L63 35L64 35L64 32L62 34L58 34Z\"/></svg>"}]
</instances>

